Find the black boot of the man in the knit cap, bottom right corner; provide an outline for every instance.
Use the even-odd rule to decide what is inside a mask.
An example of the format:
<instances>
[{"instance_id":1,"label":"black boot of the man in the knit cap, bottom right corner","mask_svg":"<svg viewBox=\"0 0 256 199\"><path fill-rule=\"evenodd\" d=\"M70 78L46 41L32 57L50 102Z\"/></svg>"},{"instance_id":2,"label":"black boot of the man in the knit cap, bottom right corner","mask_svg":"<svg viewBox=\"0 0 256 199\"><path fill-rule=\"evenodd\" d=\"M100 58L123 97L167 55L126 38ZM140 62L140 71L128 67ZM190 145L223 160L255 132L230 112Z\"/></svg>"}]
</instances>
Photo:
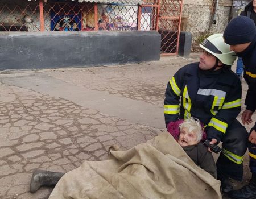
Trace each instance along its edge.
<instances>
[{"instance_id":1,"label":"black boot of the man in the knit cap, bottom right corner","mask_svg":"<svg viewBox=\"0 0 256 199\"><path fill-rule=\"evenodd\" d=\"M256 199L256 174L253 174L249 184L229 192L229 196L236 199Z\"/></svg>"}]
</instances>

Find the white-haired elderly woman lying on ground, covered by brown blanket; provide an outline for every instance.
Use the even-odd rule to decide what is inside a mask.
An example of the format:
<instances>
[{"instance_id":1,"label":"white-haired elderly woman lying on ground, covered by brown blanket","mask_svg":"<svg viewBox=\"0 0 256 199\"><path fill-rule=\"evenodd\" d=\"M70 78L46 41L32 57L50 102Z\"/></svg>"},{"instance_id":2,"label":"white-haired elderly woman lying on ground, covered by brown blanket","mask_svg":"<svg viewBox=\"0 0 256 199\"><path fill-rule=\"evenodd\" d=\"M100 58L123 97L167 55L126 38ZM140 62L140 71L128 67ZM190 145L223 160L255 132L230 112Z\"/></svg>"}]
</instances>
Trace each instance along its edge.
<instances>
[{"instance_id":1,"label":"white-haired elderly woman lying on ground, covered by brown blanket","mask_svg":"<svg viewBox=\"0 0 256 199\"><path fill-rule=\"evenodd\" d=\"M216 166L213 156L201 142L206 136L200 122L189 118L171 122L167 129L177 142L170 134L163 133L130 150L110 151L114 159L85 161L65 176L65 173L36 170L31 178L30 192L35 193L41 186L55 186L59 181L49 198L115 198L113 194L117 198L144 198L148 194L149 198L186 198L186 193L179 192L179 189L192 196L193 193L196 196L203 194L203 197L209 196L207 192L211 191L212 198L221 198L219 181L214 179ZM196 188L193 187L195 183Z\"/></svg>"}]
</instances>

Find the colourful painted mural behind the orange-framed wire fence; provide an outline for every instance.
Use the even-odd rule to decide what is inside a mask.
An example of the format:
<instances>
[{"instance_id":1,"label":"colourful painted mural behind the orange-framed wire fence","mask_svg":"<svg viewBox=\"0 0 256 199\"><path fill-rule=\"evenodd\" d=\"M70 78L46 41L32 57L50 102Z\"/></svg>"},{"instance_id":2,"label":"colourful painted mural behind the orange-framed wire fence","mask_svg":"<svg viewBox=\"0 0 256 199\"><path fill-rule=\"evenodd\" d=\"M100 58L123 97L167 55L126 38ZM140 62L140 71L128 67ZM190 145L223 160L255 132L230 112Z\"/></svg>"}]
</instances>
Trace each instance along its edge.
<instances>
[{"instance_id":1,"label":"colourful painted mural behind the orange-framed wire fence","mask_svg":"<svg viewBox=\"0 0 256 199\"><path fill-rule=\"evenodd\" d=\"M137 30L138 6L98 4L98 30L134 31ZM66 14L65 14L66 13ZM86 6L78 12L65 12L63 9L51 11L51 31L92 31L95 28L94 6ZM141 30L151 26L151 7L142 9Z\"/></svg>"}]
</instances>

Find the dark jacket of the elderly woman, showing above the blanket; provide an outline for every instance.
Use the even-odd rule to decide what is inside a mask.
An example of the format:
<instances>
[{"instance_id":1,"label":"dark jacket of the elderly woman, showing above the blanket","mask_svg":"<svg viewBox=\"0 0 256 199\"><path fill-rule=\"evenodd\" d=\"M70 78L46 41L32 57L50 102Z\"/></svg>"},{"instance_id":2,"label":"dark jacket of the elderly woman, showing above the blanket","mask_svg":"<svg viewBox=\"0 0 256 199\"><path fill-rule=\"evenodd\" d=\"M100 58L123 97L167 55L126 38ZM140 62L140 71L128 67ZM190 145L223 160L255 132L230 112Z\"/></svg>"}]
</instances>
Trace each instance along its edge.
<instances>
[{"instance_id":1,"label":"dark jacket of the elderly woman, showing above the blanket","mask_svg":"<svg viewBox=\"0 0 256 199\"><path fill-rule=\"evenodd\" d=\"M192 146L185 146L183 150L196 165L199 165L199 167L217 179L216 165L212 153L208 151L208 148L202 142Z\"/></svg>"}]
</instances>

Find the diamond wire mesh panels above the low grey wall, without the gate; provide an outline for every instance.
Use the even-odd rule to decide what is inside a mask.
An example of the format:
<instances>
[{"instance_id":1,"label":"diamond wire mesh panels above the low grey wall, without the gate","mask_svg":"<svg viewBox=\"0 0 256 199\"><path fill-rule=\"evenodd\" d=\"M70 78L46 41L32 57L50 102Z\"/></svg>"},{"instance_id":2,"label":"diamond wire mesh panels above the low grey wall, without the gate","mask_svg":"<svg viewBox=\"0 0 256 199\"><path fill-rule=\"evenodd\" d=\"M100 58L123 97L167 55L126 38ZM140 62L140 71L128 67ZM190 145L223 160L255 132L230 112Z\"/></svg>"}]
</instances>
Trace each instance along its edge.
<instances>
[{"instance_id":1,"label":"diamond wire mesh panels above the low grey wall, without the gate","mask_svg":"<svg viewBox=\"0 0 256 199\"><path fill-rule=\"evenodd\" d=\"M141 9L138 25L137 5L0 0L0 31L135 31L153 30L156 14L151 7ZM43 22L43 27L42 26Z\"/></svg>"}]
</instances>

